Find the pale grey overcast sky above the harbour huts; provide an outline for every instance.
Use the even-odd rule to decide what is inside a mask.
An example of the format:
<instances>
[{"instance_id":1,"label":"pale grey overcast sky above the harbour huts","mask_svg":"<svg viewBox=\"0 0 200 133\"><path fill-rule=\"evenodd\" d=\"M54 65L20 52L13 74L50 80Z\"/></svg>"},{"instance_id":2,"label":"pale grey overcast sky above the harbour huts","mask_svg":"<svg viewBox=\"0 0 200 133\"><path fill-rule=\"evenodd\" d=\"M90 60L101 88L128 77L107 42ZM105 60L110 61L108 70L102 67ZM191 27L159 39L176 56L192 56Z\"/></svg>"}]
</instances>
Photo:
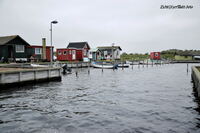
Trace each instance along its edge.
<instances>
[{"instance_id":1,"label":"pale grey overcast sky above the harbour huts","mask_svg":"<svg viewBox=\"0 0 200 133\"><path fill-rule=\"evenodd\" d=\"M161 5L193 9L160 9ZM200 50L199 0L0 0L0 36L18 34L30 44L65 48L87 41L92 48L121 46L123 52Z\"/></svg>"}]
</instances>

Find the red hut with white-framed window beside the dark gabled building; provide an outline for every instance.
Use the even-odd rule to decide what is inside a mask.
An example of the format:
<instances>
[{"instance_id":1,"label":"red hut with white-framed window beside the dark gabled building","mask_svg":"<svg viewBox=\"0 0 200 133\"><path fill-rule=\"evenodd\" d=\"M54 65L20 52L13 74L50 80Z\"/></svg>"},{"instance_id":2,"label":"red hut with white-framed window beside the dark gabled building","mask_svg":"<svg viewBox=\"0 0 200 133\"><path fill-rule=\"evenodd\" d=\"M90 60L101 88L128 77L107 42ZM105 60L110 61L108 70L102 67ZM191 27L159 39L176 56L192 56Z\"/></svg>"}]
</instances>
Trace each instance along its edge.
<instances>
[{"instance_id":1,"label":"red hut with white-framed window beside the dark gabled building","mask_svg":"<svg viewBox=\"0 0 200 133\"><path fill-rule=\"evenodd\" d=\"M51 46L39 46L39 45L31 45L32 56L34 59L43 60L43 61L51 61ZM43 52L45 51L45 52ZM53 53L53 46L52 46Z\"/></svg>"}]
</instances>

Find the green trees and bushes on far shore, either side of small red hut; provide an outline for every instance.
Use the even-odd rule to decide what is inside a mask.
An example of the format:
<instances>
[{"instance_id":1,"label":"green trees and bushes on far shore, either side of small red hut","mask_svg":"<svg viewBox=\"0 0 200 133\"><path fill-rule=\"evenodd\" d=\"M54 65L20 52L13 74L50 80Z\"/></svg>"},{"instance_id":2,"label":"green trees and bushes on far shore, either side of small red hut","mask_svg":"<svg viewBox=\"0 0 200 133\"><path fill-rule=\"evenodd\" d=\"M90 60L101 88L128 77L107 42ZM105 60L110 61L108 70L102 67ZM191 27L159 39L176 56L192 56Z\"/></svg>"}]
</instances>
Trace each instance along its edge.
<instances>
[{"instance_id":1,"label":"green trees and bushes on far shore, either side of small red hut","mask_svg":"<svg viewBox=\"0 0 200 133\"><path fill-rule=\"evenodd\" d=\"M139 54L139 53L122 53L121 60L144 60L149 59L150 53ZM200 55L200 50L179 50L179 49L169 49L161 51L161 58L174 60L175 55L182 55L182 56L194 56Z\"/></svg>"}]
</instances>

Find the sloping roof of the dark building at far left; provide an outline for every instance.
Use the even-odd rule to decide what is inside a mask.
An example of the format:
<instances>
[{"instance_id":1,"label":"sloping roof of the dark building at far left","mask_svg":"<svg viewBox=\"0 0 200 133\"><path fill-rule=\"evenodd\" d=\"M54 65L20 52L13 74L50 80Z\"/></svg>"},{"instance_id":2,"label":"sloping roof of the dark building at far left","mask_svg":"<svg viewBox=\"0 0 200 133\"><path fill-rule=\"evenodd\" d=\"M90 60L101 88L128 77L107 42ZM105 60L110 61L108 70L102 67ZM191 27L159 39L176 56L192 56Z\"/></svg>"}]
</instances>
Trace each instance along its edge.
<instances>
[{"instance_id":1,"label":"sloping roof of the dark building at far left","mask_svg":"<svg viewBox=\"0 0 200 133\"><path fill-rule=\"evenodd\" d=\"M14 40L15 38L19 38L19 39L21 39L24 43L26 43L27 45L30 45L30 44L27 43L24 39L22 39L19 35L2 36L2 37L0 37L0 45L9 44L9 42L11 42L12 40Z\"/></svg>"}]
</instances>

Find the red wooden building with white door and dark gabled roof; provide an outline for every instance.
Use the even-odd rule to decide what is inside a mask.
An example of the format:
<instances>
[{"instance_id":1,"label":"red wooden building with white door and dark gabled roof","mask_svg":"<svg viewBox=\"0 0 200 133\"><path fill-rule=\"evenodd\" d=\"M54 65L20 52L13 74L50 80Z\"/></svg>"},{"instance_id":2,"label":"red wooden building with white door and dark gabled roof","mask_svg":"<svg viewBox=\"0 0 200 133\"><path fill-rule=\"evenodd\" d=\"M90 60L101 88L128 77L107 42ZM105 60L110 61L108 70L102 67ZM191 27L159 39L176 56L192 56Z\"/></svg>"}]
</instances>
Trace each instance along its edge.
<instances>
[{"instance_id":1,"label":"red wooden building with white door and dark gabled roof","mask_svg":"<svg viewBox=\"0 0 200 133\"><path fill-rule=\"evenodd\" d=\"M69 43L67 48L56 50L57 60L59 61L82 61L83 58L88 58L90 46L87 42Z\"/></svg>"}]
</instances>

